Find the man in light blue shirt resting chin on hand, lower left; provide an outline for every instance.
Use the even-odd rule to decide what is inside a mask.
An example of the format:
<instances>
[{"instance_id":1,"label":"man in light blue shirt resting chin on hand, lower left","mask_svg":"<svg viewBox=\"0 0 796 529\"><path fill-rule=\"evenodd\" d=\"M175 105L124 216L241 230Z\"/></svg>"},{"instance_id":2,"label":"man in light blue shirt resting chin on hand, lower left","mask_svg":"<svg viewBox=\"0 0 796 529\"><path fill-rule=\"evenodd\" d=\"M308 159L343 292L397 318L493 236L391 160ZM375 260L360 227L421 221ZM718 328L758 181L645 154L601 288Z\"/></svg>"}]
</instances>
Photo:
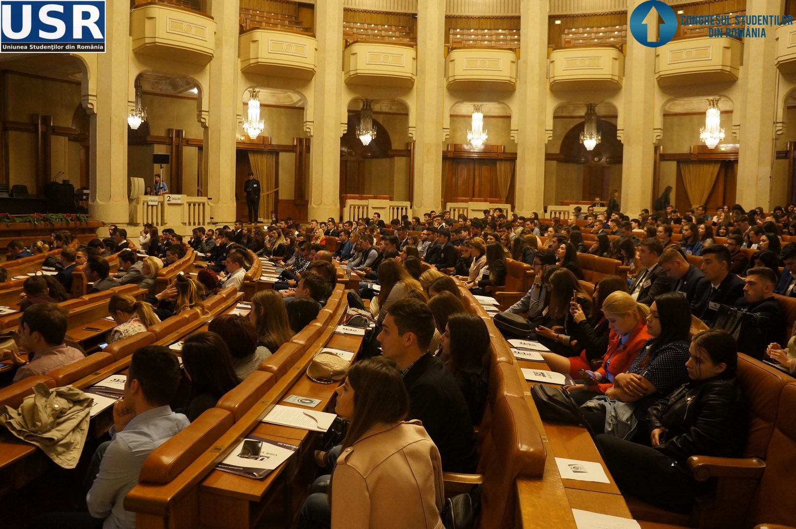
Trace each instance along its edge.
<instances>
[{"instance_id":1,"label":"man in light blue shirt resting chin on hand, lower left","mask_svg":"<svg viewBox=\"0 0 796 529\"><path fill-rule=\"evenodd\" d=\"M180 378L168 348L150 345L133 353L124 396L113 406L111 441L97 448L86 474L88 513L52 513L29 527L135 529L135 513L124 510L124 497L139 483L146 457L189 424L169 406Z\"/></svg>"}]
</instances>

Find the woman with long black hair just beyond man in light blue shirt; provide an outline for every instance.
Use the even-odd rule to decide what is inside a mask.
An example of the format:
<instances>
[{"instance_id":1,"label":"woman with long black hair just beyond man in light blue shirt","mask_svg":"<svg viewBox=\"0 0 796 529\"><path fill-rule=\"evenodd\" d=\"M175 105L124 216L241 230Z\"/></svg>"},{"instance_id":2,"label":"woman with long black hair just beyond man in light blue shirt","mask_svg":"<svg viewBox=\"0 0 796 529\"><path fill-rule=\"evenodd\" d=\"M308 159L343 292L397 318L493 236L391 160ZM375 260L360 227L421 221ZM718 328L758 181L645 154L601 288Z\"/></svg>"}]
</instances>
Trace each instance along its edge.
<instances>
[{"instance_id":1,"label":"woman with long black hair just beyond man in light blue shirt","mask_svg":"<svg viewBox=\"0 0 796 529\"><path fill-rule=\"evenodd\" d=\"M185 414L193 422L238 385L228 344L216 333L193 333L182 344L182 365L191 381Z\"/></svg>"}]
</instances>

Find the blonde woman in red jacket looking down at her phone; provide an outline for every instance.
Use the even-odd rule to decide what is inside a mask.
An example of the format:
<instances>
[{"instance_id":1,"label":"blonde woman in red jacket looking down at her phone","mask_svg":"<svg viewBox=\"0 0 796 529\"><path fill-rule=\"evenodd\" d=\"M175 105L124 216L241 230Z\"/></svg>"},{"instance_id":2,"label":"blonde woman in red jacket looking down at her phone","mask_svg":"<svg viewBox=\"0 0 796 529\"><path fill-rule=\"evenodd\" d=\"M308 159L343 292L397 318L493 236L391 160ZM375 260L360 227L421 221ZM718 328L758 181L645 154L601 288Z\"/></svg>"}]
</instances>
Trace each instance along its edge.
<instances>
[{"instance_id":1,"label":"blonde woman in red jacket looking down at her phone","mask_svg":"<svg viewBox=\"0 0 796 529\"><path fill-rule=\"evenodd\" d=\"M650 339L646 330L650 309L634 301L630 294L622 291L609 294L603 301L603 313L611 329L603 364L594 371L578 371L583 383L565 386L579 402L591 399L595 393L604 394L614 384L616 375L627 370Z\"/></svg>"}]
</instances>

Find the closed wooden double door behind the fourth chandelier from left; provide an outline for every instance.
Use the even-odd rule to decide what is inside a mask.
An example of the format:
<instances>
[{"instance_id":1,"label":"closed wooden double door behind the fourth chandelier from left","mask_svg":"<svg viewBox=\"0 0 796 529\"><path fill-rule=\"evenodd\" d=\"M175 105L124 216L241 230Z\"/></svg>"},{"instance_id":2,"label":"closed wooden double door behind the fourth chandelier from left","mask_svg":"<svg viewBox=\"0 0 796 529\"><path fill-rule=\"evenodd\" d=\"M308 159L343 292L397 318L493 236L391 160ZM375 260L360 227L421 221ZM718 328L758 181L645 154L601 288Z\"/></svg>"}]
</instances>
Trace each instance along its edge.
<instances>
[{"instance_id":1,"label":"closed wooden double door behind the fourth chandelier from left","mask_svg":"<svg viewBox=\"0 0 796 529\"><path fill-rule=\"evenodd\" d=\"M446 203L501 200L496 160L453 159L445 184Z\"/></svg>"}]
</instances>

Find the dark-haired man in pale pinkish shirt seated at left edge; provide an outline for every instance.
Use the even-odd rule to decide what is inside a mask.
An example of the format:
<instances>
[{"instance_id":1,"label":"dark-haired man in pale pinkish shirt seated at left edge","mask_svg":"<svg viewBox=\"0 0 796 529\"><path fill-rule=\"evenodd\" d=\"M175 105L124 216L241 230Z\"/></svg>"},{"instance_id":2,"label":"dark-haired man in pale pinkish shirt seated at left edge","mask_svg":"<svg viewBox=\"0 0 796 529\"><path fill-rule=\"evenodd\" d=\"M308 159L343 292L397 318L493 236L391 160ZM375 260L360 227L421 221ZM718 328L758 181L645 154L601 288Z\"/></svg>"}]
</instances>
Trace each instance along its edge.
<instances>
[{"instance_id":1,"label":"dark-haired man in pale pinkish shirt seated at left edge","mask_svg":"<svg viewBox=\"0 0 796 529\"><path fill-rule=\"evenodd\" d=\"M19 317L19 346L28 352L29 361L18 352L3 349L0 360L18 366L14 382L34 375L46 375L66 364L84 358L83 352L64 344L68 325L66 309L53 303L30 305Z\"/></svg>"}]
</instances>

